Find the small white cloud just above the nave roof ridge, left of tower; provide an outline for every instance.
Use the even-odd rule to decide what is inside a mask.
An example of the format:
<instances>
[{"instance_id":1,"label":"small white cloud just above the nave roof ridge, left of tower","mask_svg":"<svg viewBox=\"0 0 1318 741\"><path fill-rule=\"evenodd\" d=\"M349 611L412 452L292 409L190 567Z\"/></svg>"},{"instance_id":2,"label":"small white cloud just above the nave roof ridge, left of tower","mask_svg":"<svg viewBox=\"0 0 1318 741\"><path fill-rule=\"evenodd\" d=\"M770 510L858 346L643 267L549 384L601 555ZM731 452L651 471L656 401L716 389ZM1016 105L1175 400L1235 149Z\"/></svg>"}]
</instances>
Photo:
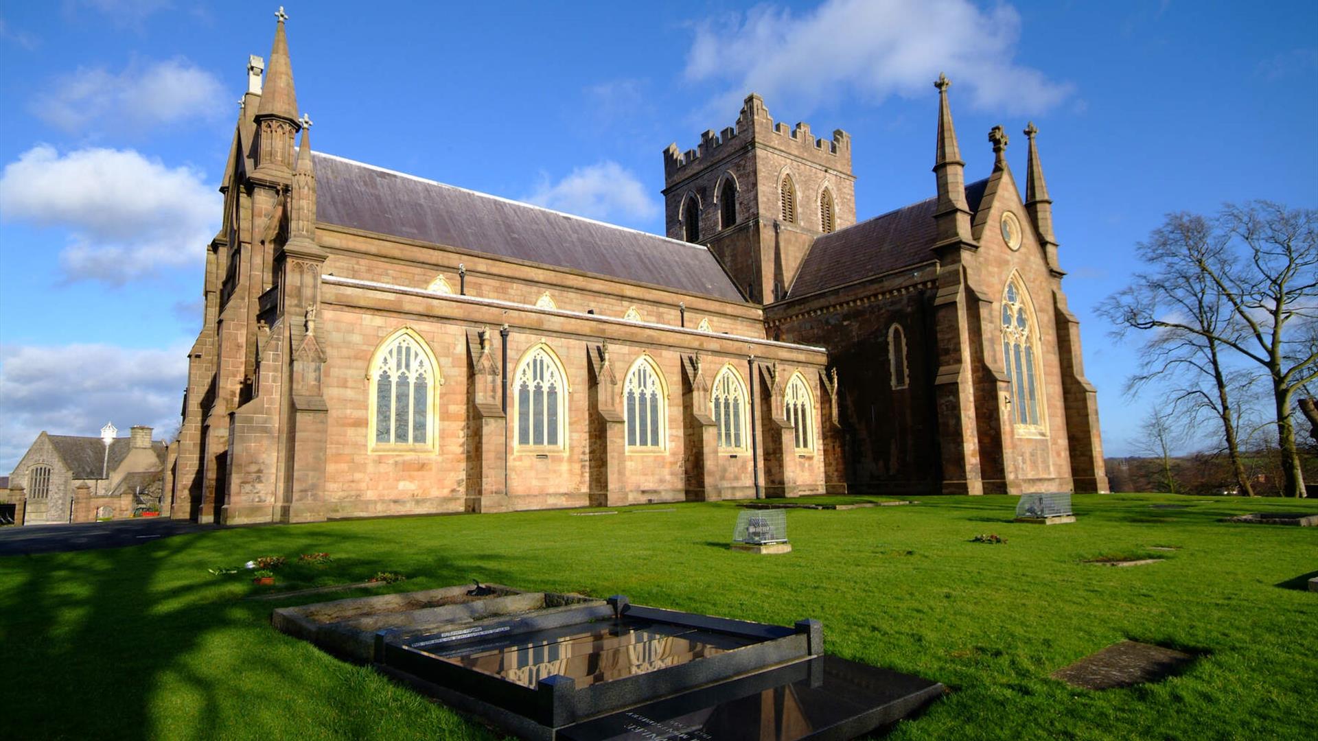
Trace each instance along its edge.
<instances>
[{"instance_id":1,"label":"small white cloud just above the nave roof ridge, left of tower","mask_svg":"<svg viewBox=\"0 0 1318 741\"><path fill-rule=\"evenodd\" d=\"M659 204L637 175L612 161L577 167L556 183L546 181L522 200L606 222L659 215Z\"/></svg>"}]
</instances>

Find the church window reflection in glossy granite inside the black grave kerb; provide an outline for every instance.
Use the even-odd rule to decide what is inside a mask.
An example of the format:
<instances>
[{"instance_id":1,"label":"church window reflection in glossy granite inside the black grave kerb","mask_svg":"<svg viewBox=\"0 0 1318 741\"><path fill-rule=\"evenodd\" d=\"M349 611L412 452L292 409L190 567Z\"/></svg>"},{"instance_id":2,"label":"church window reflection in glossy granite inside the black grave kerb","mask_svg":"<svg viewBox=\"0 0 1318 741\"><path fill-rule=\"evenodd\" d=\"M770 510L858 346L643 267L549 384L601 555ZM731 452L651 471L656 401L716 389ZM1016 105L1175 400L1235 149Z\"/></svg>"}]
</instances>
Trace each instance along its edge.
<instances>
[{"instance_id":1,"label":"church window reflection in glossy granite inside the black grave kerb","mask_svg":"<svg viewBox=\"0 0 1318 741\"><path fill-rule=\"evenodd\" d=\"M569 625L506 638L434 646L426 637L413 647L459 666L525 687L560 674L577 687L689 663L747 646L751 638L683 625L622 618Z\"/></svg>"}]
</instances>

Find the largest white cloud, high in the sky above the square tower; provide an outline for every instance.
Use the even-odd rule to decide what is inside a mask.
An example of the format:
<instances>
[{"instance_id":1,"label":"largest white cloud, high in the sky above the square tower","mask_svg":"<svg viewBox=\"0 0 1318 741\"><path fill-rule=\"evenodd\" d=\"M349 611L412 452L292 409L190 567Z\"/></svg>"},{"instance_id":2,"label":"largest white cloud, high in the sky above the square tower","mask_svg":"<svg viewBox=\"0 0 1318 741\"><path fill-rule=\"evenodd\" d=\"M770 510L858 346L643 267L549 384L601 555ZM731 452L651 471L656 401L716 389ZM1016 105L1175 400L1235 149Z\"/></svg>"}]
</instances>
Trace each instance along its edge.
<instances>
[{"instance_id":1,"label":"largest white cloud, high in the sky above the square tower","mask_svg":"<svg viewBox=\"0 0 1318 741\"><path fill-rule=\"evenodd\" d=\"M828 0L800 16L762 5L731 24L697 25L687 76L733 86L712 102L721 115L749 92L803 113L847 95L929 95L940 71L974 108L1043 112L1072 86L1012 61L1020 26L1011 5L969 0Z\"/></svg>"}]
</instances>

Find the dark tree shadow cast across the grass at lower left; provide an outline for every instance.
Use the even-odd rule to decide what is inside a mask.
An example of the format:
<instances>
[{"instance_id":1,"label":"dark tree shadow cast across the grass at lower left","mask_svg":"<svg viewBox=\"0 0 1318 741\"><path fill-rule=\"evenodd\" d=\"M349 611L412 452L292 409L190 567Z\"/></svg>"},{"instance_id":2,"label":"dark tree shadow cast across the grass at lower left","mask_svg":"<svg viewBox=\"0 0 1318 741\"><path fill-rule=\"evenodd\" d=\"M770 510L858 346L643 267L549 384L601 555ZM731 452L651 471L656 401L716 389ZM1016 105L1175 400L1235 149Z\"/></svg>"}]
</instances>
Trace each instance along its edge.
<instances>
[{"instance_id":1,"label":"dark tree shadow cast across the grass at lower left","mask_svg":"<svg viewBox=\"0 0 1318 741\"><path fill-rule=\"evenodd\" d=\"M219 556L212 533L204 541L181 535L133 547L3 559L0 634L4 675L12 687L7 699L25 708L7 717L3 736L156 738L183 729L183 736L214 738L246 729L256 737L290 737L297 736L299 723L314 723L299 717L298 694L352 708L335 717L336 732L345 737L380 736L390 724L397 730L398 720L386 717L381 700L416 708L416 716L428 713L430 728L418 733L434 736L435 724L455 724L452 732L465 732L455 716L436 715L424 700L397 688L385 697L368 694L374 707L353 703L360 683L384 680L365 670L368 676L345 678L340 668L327 667L318 649L299 646L269 626L274 607L333 595L250 603L241 597L257 589L206 572L211 560L241 562L245 558L239 554L264 552L295 558L323 550L326 541L360 556L351 568L365 575L374 570L424 575L372 593L460 584L472 574L489 581L510 575L492 566L505 556L455 563L431 552L385 563L372 556L378 552L373 537L289 529L232 530ZM241 683L232 682L235 674L243 676Z\"/></svg>"}]
</instances>

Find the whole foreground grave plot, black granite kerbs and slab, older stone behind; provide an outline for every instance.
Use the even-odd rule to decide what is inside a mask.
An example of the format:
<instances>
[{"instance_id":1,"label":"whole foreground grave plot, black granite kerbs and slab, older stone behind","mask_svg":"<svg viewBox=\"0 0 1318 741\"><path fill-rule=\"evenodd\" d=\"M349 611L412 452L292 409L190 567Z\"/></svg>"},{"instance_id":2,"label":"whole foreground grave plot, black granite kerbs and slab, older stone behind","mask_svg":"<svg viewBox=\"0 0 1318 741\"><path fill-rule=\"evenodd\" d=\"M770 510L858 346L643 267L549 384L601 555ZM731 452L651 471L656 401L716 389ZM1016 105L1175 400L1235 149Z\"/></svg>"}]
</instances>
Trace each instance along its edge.
<instances>
[{"instance_id":1,"label":"whole foreground grave plot, black granite kerbs and slab, older stone behind","mask_svg":"<svg viewBox=\"0 0 1318 741\"><path fill-rule=\"evenodd\" d=\"M942 692L937 682L825 657L815 620L788 628L633 605L623 596L601 603L494 591L500 596L481 595L480 603L422 609L474 614L478 604L489 614L510 600L536 599L542 607L444 625L410 618L410 610L361 614L361 604L306 605L299 616L353 612L356 625L374 622L365 661L378 671L529 740L854 738ZM456 599L439 592L422 601ZM320 643L319 634L285 622ZM328 647L343 655L341 641Z\"/></svg>"}]
</instances>

